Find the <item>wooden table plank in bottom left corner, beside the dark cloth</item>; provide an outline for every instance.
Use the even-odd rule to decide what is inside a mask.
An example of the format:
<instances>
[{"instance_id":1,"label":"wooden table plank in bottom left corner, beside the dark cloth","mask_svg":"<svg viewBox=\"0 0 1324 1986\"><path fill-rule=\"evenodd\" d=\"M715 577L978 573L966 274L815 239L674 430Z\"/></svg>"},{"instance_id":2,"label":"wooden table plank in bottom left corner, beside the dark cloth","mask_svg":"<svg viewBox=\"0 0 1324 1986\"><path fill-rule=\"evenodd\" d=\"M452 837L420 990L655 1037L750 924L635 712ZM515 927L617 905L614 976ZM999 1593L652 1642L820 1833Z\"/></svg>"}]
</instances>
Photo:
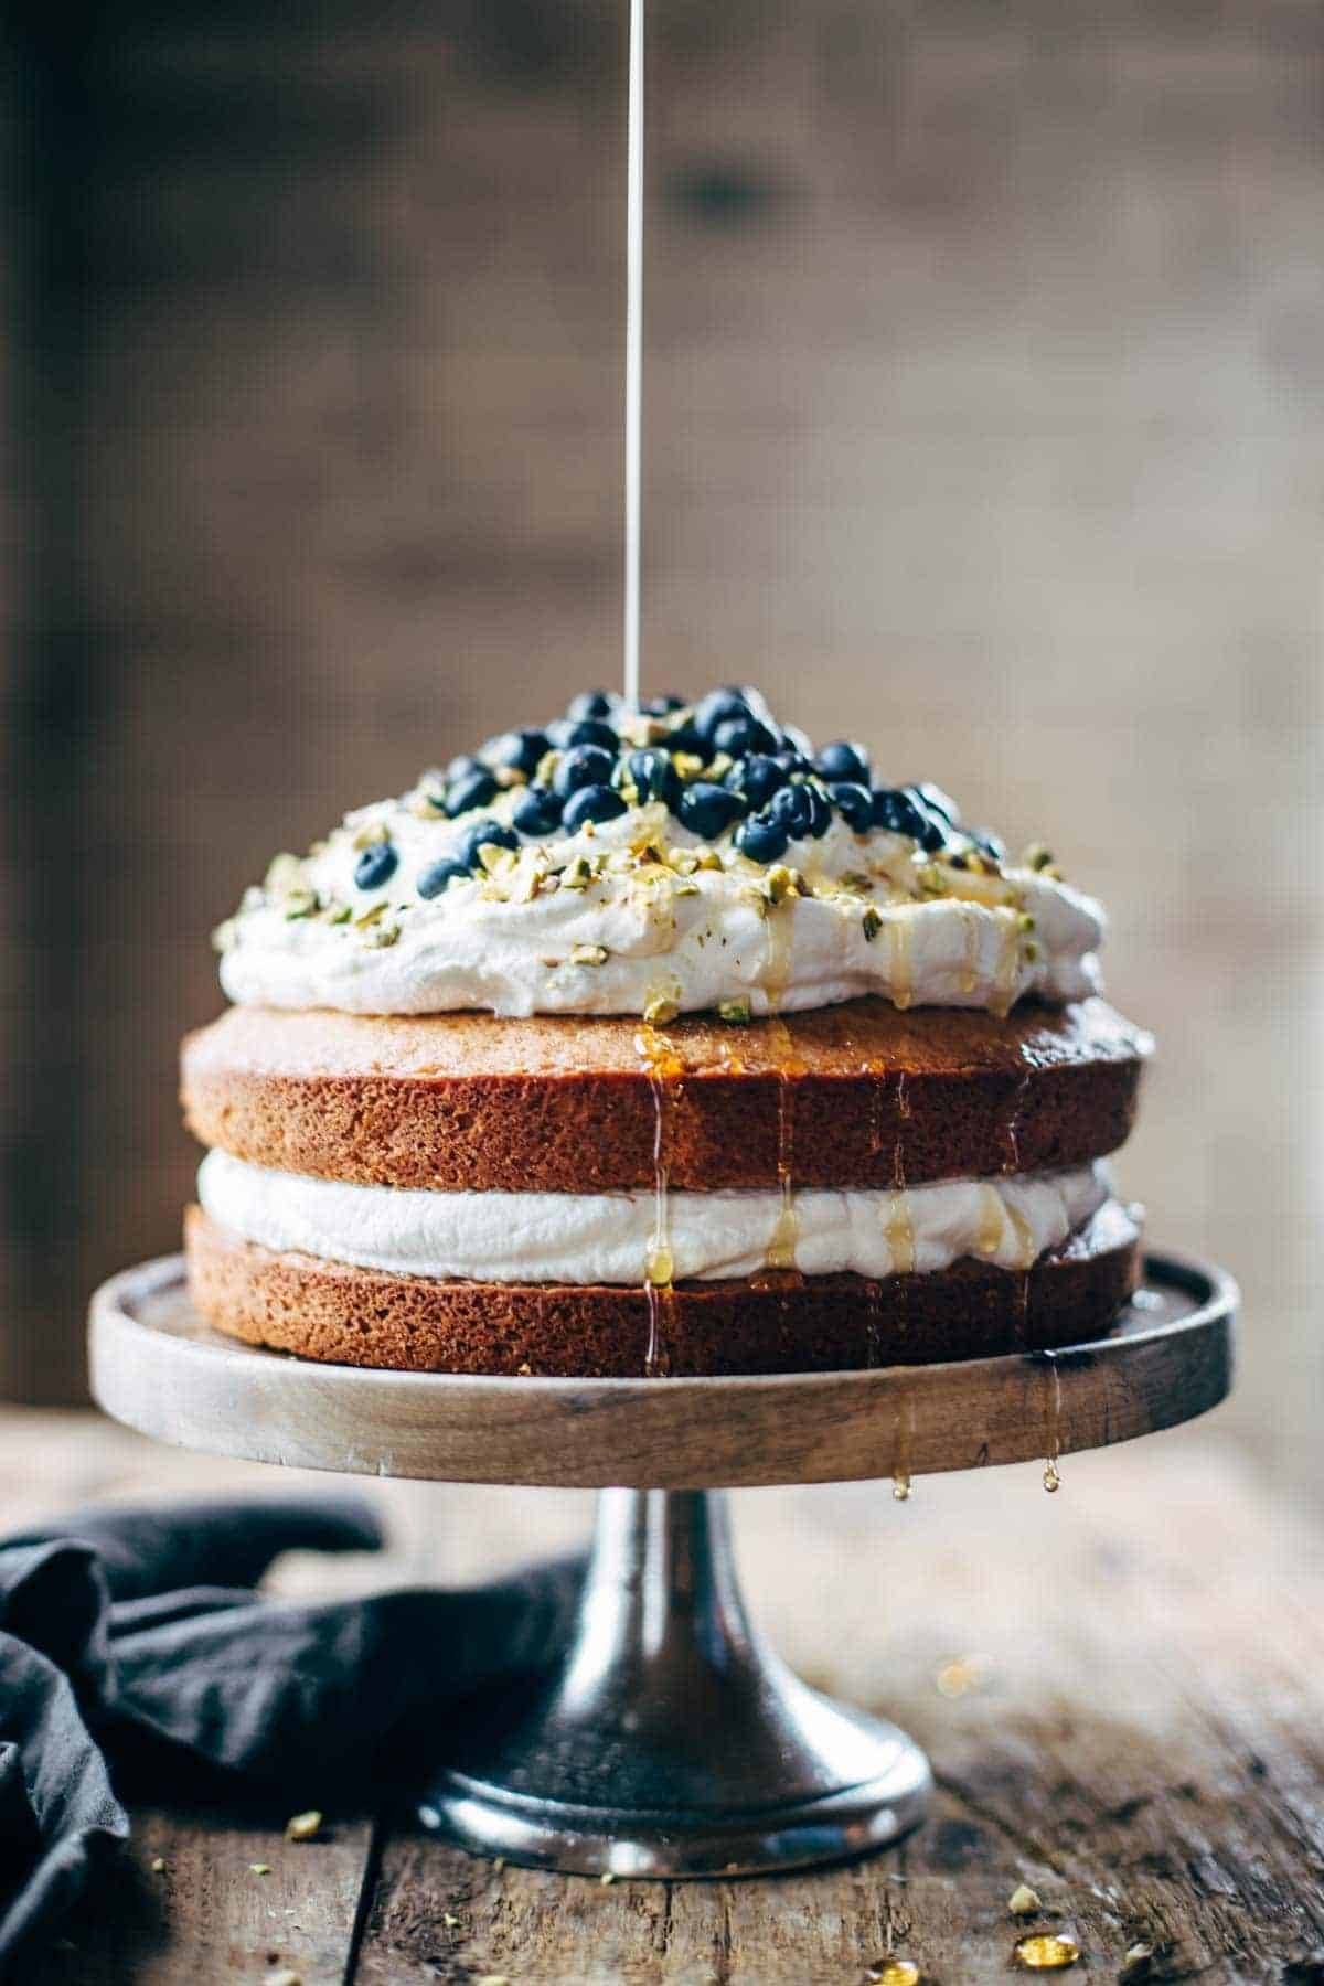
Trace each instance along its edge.
<instances>
[{"instance_id":1,"label":"wooden table plank in bottom left corner, beside the dark cloth","mask_svg":"<svg viewBox=\"0 0 1324 1986\"><path fill-rule=\"evenodd\" d=\"M294 1843L270 1811L135 1811L127 1855L24 1976L32 1986L200 1986L292 1972L302 1986L341 1986L371 1835L371 1821L331 1819L316 1841Z\"/></svg>"}]
</instances>

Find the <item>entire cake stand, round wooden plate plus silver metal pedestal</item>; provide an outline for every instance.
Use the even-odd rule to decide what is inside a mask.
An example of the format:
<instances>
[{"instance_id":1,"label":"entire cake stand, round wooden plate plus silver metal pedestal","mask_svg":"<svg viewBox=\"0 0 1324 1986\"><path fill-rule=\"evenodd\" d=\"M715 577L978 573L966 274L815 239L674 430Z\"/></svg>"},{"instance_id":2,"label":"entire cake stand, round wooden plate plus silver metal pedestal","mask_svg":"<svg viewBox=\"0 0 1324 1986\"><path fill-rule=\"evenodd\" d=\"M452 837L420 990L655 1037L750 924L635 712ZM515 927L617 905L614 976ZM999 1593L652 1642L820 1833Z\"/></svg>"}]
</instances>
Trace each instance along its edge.
<instances>
[{"instance_id":1,"label":"entire cake stand, round wooden plate plus silver metal pedestal","mask_svg":"<svg viewBox=\"0 0 1324 1986\"><path fill-rule=\"evenodd\" d=\"M1229 1390L1237 1289L1151 1255L1094 1345L772 1378L482 1378L310 1364L224 1339L179 1257L105 1283L91 1386L183 1448L367 1476L597 1488L558 1672L455 1740L419 1815L512 1861L744 1875L881 1847L925 1809L903 1732L806 1688L750 1631L723 1497L1056 1458L1171 1428ZM514 1704L512 1704L514 1698Z\"/></svg>"}]
</instances>

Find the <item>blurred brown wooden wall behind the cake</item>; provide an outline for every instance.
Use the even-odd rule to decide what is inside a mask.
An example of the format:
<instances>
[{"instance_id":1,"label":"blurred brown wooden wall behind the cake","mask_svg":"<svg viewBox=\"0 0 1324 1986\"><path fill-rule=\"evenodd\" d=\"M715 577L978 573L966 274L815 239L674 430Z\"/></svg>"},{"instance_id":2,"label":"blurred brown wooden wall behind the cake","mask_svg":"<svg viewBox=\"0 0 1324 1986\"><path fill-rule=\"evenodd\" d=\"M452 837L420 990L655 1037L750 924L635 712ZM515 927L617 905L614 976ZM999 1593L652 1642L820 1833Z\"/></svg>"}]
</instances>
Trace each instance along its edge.
<instances>
[{"instance_id":1,"label":"blurred brown wooden wall behind the cake","mask_svg":"<svg viewBox=\"0 0 1324 1986\"><path fill-rule=\"evenodd\" d=\"M645 677L1114 912L1122 1178L1310 1480L1324 16L653 0ZM0 1392L175 1245L280 846L619 667L623 6L8 16Z\"/></svg>"}]
</instances>

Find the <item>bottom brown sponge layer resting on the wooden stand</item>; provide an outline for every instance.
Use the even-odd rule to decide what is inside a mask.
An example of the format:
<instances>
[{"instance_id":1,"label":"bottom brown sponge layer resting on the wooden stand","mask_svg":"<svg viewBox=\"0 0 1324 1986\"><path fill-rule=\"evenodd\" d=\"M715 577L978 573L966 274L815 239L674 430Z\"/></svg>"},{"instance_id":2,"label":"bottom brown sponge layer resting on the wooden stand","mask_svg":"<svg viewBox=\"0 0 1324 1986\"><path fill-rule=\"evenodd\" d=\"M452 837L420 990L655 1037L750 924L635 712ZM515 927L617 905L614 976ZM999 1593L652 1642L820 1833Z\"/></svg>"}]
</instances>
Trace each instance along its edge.
<instances>
[{"instance_id":1,"label":"bottom brown sponge layer resting on the wooden stand","mask_svg":"<svg viewBox=\"0 0 1324 1986\"><path fill-rule=\"evenodd\" d=\"M1048 1350L1108 1333L1135 1287L1139 1225L1108 1200L1028 1271L810 1275L645 1289L441 1283L274 1253L191 1207L189 1287L248 1345L328 1364L540 1378L840 1372ZM653 1350L653 1358L649 1358Z\"/></svg>"}]
</instances>

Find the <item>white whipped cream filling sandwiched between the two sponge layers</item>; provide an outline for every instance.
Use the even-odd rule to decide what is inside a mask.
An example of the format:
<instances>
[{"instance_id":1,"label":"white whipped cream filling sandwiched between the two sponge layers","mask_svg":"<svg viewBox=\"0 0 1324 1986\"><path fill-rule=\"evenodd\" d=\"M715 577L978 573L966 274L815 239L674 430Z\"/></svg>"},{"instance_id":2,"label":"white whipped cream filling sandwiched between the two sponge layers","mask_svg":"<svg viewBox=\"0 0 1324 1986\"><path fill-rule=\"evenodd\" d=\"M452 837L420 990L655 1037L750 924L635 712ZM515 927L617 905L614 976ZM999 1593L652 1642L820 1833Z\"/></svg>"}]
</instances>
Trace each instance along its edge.
<instances>
[{"instance_id":1,"label":"white whipped cream filling sandwiched between the two sponge layers","mask_svg":"<svg viewBox=\"0 0 1324 1986\"><path fill-rule=\"evenodd\" d=\"M947 1180L909 1192L806 1188L784 1219L778 1192L671 1194L665 1243L675 1281L756 1275L776 1249L804 1275L887 1277L947 1269L963 1255L1028 1269L1112 1196L1100 1162L1002 1180ZM274 1251L361 1269L478 1283L643 1283L657 1202L629 1194L439 1194L347 1186L208 1152L206 1213Z\"/></svg>"}]
</instances>

